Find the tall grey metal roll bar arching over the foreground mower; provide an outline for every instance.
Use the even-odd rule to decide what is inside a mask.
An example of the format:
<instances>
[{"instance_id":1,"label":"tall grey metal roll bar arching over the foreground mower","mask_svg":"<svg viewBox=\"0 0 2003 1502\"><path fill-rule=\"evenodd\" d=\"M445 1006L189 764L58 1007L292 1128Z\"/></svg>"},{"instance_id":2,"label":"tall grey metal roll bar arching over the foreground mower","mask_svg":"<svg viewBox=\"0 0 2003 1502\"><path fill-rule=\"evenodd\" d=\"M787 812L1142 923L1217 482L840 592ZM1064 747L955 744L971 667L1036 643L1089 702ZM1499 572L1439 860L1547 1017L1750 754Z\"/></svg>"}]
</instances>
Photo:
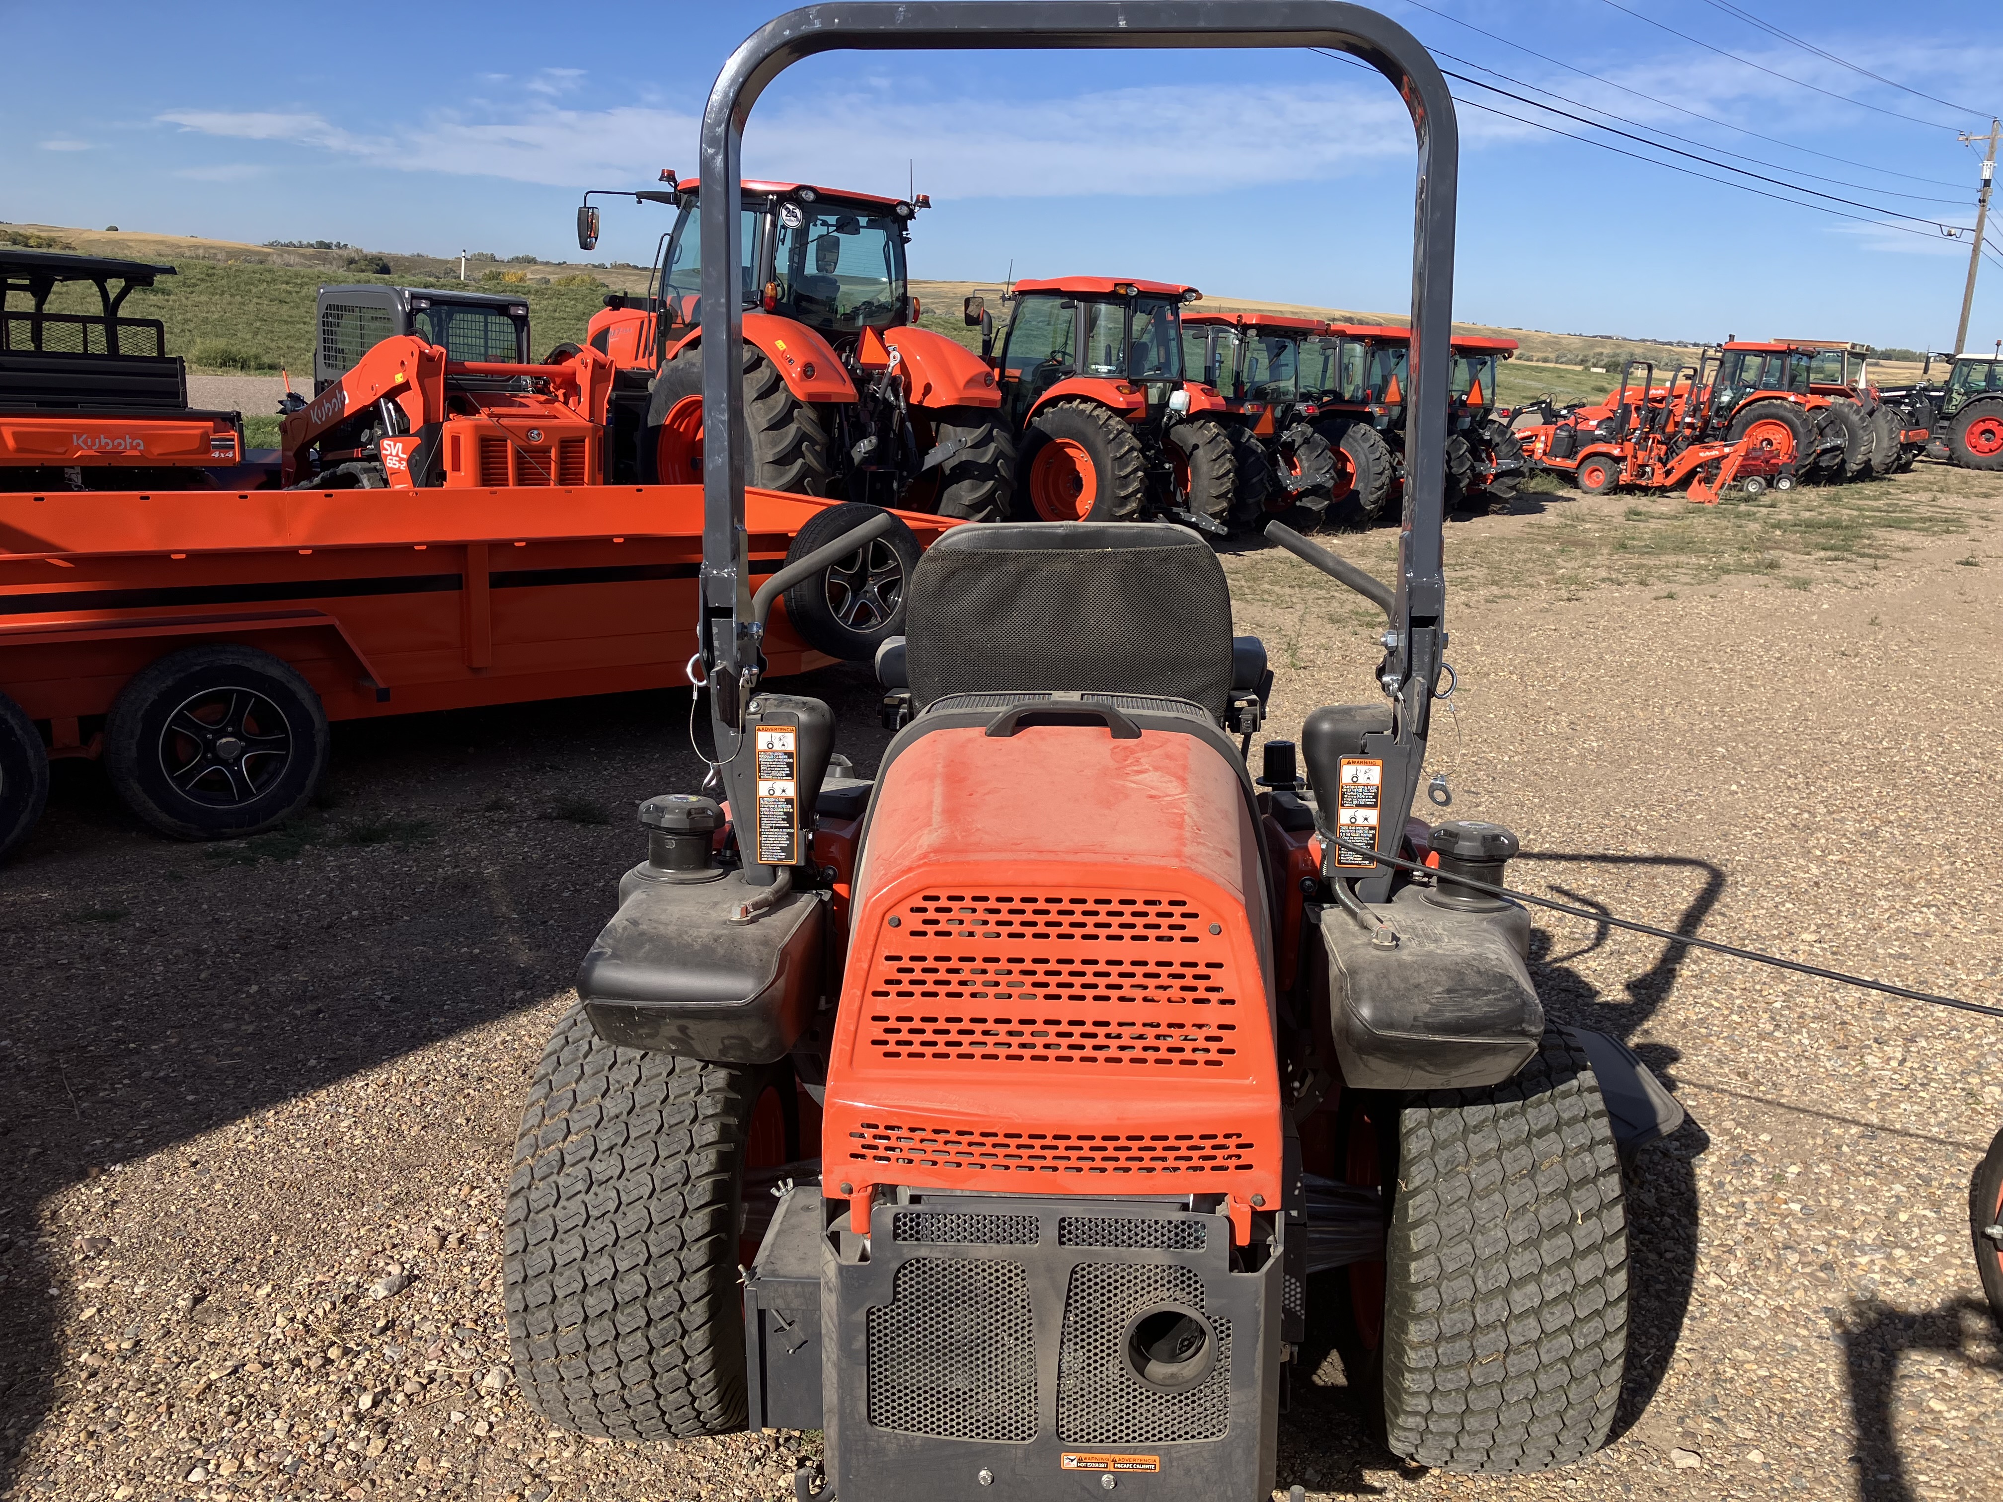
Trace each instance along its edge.
<instances>
[{"instance_id":1,"label":"tall grey metal roll bar arching over the foreground mower","mask_svg":"<svg viewBox=\"0 0 2003 1502\"><path fill-rule=\"evenodd\" d=\"M1382 839L1394 849L1418 791L1430 701L1440 675L1446 579L1440 567L1446 491L1446 391L1452 360L1454 198L1460 126L1432 56L1408 30L1342 0L911 0L791 10L753 32L709 90L701 132L703 348L743 340L737 296L743 126L765 86L819 52L991 52L1086 48L1328 48L1376 68L1398 90L1418 140L1412 232L1412 354L1406 397L1406 525L1384 691L1396 701L1396 779L1386 777ZM727 413L703 437L701 653L711 687L717 759L735 763L745 677L755 681L761 631L751 611L745 537L743 387L735 358L703 360L703 409ZM1386 765L1386 773L1394 767ZM731 767L729 781L737 781ZM737 797L739 789L729 789ZM747 789L749 791L749 789ZM737 797L735 807L749 807ZM767 883L769 867L747 863Z\"/></svg>"}]
</instances>

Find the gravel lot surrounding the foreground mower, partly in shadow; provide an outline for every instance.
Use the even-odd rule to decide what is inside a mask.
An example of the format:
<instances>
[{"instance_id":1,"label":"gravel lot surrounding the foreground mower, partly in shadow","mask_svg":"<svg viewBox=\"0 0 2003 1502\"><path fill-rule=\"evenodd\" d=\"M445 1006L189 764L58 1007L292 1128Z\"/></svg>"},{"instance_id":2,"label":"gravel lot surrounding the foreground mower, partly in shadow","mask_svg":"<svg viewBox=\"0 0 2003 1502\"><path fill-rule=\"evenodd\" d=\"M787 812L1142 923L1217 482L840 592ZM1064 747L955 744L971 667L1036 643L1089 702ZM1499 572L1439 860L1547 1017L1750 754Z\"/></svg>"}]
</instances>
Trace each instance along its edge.
<instances>
[{"instance_id":1,"label":"gravel lot surrounding the foreground mower, partly in shadow","mask_svg":"<svg viewBox=\"0 0 2003 1502\"><path fill-rule=\"evenodd\" d=\"M2003 999L1999 499L1925 469L1779 507L1532 495L1456 523L1432 761L1454 813L1510 823L1530 889ZM1384 569L1388 535L1338 543ZM1368 697L1366 611L1272 551L1226 567L1282 733ZM873 761L869 685L815 691ZM637 857L633 801L697 781L685 709L343 727L328 807L218 849L58 769L0 871L6 1496L791 1496L819 1436L577 1442L505 1366L517 1101ZM1568 919L1538 923L1538 971L1693 1113L1628 1180L1618 1440L1566 1474L1398 1468L1330 1356L1284 1420L1282 1488L1995 1494L2003 1354L1965 1186L2003 1125L2003 1025Z\"/></svg>"}]
</instances>

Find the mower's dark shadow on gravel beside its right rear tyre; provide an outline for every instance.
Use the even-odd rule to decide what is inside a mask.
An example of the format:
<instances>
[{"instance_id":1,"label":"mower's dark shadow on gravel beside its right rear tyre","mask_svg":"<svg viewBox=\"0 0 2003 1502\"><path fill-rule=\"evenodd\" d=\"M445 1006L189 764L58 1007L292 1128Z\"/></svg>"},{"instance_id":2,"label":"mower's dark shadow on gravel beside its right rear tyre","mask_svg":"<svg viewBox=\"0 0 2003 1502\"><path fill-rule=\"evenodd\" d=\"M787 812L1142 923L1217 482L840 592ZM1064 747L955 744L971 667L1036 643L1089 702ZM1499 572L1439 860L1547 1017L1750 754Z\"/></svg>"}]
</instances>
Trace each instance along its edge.
<instances>
[{"instance_id":1,"label":"mower's dark shadow on gravel beside its right rear tyre","mask_svg":"<svg viewBox=\"0 0 2003 1502\"><path fill-rule=\"evenodd\" d=\"M1602 855L1566 851L1526 851L1518 861L1548 861L1552 865L1652 865L1683 869L1699 877L1697 895L1675 923L1660 923L1679 933L1699 933L1725 895L1725 871L1693 855ZM1522 885L1520 879L1516 883ZM1604 903L1556 883L1550 889L1576 907L1608 911ZM1650 915L1652 917L1652 915ZM1624 999L1606 997L1586 981L1572 961L1602 947L1614 929L1598 923L1584 943L1566 943L1562 935L1534 927L1530 931L1530 973L1538 995L1558 1021L1610 1033L1632 1047L1632 1037L1662 1007L1677 989L1677 975L1691 945L1666 941L1656 961L1622 989ZM1634 1047L1642 1063L1675 1089L1675 1065L1683 1053L1662 1043ZM1689 1107L1685 1107L1689 1111ZM1664 1142L1650 1144L1622 1166L1628 1210L1628 1358L1620 1382L1620 1408L1614 1414L1612 1438L1626 1434L1646 1412L1656 1388L1668 1374L1677 1354L1683 1322L1691 1312L1697 1284L1697 1160L1711 1148L1711 1138L1685 1117L1683 1128Z\"/></svg>"}]
</instances>

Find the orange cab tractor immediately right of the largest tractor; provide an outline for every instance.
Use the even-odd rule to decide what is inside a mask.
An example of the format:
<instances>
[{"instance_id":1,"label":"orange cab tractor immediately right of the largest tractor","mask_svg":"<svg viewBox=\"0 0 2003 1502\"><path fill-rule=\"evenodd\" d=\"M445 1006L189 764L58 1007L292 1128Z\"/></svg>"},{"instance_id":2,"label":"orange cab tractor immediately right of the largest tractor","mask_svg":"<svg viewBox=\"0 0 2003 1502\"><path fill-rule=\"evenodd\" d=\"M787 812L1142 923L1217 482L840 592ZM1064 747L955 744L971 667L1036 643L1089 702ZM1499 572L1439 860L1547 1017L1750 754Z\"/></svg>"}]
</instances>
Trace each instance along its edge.
<instances>
[{"instance_id":1,"label":"orange cab tractor immediately right of the largest tractor","mask_svg":"<svg viewBox=\"0 0 2003 1502\"><path fill-rule=\"evenodd\" d=\"M1238 451L1216 387L1184 379L1180 282L1058 276L1016 282L1002 340L1002 411L1018 437L1028 521L1170 517L1224 535ZM983 320L979 298L965 316ZM983 324L983 354L991 322Z\"/></svg>"}]
</instances>

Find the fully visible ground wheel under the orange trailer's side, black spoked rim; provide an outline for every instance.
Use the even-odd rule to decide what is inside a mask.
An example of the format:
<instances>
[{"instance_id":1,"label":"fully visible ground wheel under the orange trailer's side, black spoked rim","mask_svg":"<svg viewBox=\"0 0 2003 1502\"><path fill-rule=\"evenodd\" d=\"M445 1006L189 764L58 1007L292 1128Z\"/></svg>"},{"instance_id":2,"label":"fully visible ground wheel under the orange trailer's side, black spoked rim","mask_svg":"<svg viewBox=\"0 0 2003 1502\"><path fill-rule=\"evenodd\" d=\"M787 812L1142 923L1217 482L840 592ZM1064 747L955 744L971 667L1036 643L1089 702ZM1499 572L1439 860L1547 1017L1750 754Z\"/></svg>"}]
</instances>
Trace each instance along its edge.
<instances>
[{"instance_id":1,"label":"fully visible ground wheel under the orange trailer's side, black spoked rim","mask_svg":"<svg viewBox=\"0 0 2003 1502\"><path fill-rule=\"evenodd\" d=\"M162 833L242 839L306 807L326 771L326 711L270 653L188 647L118 691L104 717L104 771Z\"/></svg>"}]
</instances>

